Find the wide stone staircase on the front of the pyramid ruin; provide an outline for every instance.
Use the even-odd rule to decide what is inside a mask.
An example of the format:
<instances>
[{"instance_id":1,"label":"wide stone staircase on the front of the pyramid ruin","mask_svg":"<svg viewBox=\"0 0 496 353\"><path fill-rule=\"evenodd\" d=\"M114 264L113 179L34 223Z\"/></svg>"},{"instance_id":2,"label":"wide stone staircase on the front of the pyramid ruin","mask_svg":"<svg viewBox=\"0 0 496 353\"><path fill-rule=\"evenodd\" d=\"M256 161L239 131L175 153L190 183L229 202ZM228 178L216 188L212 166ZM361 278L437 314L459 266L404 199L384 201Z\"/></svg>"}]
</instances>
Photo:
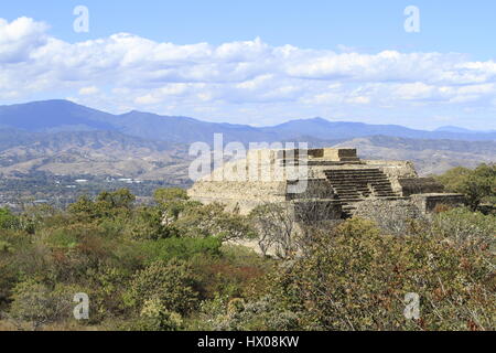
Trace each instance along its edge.
<instances>
[{"instance_id":1,"label":"wide stone staircase on the front of the pyramid ruin","mask_svg":"<svg viewBox=\"0 0 496 353\"><path fill-rule=\"evenodd\" d=\"M392 191L391 183L379 169L330 169L327 180L337 194L343 207L343 217L349 218L356 210L355 204L367 197L386 200L400 199Z\"/></svg>"}]
</instances>

